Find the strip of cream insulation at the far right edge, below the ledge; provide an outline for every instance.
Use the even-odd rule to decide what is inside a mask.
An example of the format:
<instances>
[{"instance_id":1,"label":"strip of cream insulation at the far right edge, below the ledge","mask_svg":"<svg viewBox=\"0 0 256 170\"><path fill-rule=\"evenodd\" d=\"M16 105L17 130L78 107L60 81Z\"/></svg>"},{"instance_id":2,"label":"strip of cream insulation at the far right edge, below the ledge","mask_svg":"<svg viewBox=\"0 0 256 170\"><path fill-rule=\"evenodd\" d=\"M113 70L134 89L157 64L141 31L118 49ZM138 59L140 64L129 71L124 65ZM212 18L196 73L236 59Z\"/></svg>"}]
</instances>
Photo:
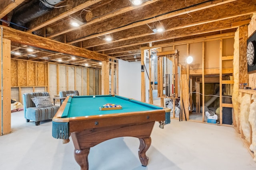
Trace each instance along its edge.
<instances>
[{"instance_id":1,"label":"strip of cream insulation at the far right edge, below the ledge","mask_svg":"<svg viewBox=\"0 0 256 170\"><path fill-rule=\"evenodd\" d=\"M249 122L252 126L252 144L250 150L254 153L254 161L256 162L256 94L252 95L252 104L250 104Z\"/></svg>"}]
</instances>

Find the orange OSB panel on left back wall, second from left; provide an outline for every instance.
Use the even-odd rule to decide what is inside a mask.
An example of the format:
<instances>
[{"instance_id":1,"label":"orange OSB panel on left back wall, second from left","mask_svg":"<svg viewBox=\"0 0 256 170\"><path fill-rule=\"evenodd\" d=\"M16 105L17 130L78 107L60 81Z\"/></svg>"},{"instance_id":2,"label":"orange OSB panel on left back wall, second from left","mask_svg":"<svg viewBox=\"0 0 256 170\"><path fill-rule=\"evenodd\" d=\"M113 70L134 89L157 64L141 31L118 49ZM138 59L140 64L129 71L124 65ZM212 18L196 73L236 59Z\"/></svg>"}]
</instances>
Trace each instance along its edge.
<instances>
[{"instance_id":1,"label":"orange OSB panel on left back wall, second from left","mask_svg":"<svg viewBox=\"0 0 256 170\"><path fill-rule=\"evenodd\" d=\"M27 62L18 61L18 86L27 86Z\"/></svg>"}]
</instances>

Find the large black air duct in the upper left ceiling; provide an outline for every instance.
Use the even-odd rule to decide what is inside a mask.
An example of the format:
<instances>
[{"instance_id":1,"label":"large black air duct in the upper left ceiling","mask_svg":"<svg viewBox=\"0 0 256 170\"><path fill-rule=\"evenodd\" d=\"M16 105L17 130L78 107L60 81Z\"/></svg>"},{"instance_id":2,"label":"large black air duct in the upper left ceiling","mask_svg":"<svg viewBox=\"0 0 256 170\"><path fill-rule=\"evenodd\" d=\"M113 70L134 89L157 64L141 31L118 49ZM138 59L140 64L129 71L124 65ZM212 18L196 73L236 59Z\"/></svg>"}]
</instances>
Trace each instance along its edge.
<instances>
[{"instance_id":1,"label":"large black air duct in the upper left ceiling","mask_svg":"<svg viewBox=\"0 0 256 170\"><path fill-rule=\"evenodd\" d=\"M24 30L26 23L50 12L53 6L63 0L32 0L14 11L10 26L14 29Z\"/></svg>"}]
</instances>

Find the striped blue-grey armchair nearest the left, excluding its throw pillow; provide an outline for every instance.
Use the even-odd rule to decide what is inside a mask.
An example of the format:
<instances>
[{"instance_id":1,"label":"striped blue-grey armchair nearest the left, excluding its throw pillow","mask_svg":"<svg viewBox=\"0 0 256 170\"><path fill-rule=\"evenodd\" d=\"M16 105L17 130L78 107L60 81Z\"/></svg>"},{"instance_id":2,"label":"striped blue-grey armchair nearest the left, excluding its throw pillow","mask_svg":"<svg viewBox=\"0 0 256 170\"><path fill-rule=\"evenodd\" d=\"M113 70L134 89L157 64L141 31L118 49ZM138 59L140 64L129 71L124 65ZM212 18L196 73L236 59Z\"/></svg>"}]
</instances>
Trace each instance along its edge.
<instances>
[{"instance_id":1,"label":"striped blue-grey armchair nearest the left, excluding its throw pillow","mask_svg":"<svg viewBox=\"0 0 256 170\"><path fill-rule=\"evenodd\" d=\"M40 125L40 121L52 119L60 106L36 107L32 98L38 96L49 96L48 92L34 92L23 94L24 117L26 122L35 121L36 125Z\"/></svg>"}]
</instances>

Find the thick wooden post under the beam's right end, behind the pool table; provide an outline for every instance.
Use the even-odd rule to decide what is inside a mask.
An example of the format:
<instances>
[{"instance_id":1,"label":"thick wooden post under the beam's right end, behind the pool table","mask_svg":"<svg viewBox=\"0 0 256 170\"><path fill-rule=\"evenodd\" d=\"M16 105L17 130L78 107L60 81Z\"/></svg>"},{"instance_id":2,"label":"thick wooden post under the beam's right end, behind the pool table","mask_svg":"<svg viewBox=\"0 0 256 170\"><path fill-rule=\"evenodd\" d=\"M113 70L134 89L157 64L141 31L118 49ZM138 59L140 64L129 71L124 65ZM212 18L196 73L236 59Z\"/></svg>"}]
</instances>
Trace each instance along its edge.
<instances>
[{"instance_id":1,"label":"thick wooden post under the beam's right end, behind the pool table","mask_svg":"<svg viewBox=\"0 0 256 170\"><path fill-rule=\"evenodd\" d=\"M103 95L109 94L109 59L102 61L102 78L101 78L101 92Z\"/></svg>"}]
</instances>

